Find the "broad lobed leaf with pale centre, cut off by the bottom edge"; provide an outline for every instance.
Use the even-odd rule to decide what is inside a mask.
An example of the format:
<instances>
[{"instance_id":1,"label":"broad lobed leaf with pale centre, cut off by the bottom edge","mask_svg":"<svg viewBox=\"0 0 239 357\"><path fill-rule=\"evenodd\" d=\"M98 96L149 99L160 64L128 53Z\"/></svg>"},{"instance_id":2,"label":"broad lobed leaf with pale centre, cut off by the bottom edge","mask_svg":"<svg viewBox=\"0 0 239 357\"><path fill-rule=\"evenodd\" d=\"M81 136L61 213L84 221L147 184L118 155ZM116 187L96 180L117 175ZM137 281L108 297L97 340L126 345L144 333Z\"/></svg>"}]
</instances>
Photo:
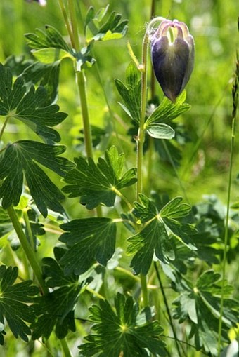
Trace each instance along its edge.
<instances>
[{"instance_id":1,"label":"broad lobed leaf with pale centre, cut off by the bottom edge","mask_svg":"<svg viewBox=\"0 0 239 357\"><path fill-rule=\"evenodd\" d=\"M95 323L92 335L86 336L86 343L79 346L80 356L91 357L147 357L166 356L164 343L159 336L162 328L157 321L138 325L138 305L132 297L125 298L118 293L115 310L107 300L90 308L90 319Z\"/></svg>"}]
</instances>

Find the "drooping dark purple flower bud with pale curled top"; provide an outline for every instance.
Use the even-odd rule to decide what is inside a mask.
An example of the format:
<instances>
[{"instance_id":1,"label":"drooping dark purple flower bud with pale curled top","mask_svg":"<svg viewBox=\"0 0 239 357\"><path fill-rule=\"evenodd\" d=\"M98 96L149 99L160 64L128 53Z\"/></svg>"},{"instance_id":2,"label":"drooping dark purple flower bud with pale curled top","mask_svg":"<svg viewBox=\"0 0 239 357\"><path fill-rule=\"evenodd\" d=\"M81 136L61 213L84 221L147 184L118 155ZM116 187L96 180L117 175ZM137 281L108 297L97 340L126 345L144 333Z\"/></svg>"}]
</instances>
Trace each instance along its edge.
<instances>
[{"instance_id":1,"label":"drooping dark purple flower bud with pale curled top","mask_svg":"<svg viewBox=\"0 0 239 357\"><path fill-rule=\"evenodd\" d=\"M193 36L183 22L164 19L150 36L150 42L155 76L164 94L174 102L193 71Z\"/></svg>"}]
</instances>

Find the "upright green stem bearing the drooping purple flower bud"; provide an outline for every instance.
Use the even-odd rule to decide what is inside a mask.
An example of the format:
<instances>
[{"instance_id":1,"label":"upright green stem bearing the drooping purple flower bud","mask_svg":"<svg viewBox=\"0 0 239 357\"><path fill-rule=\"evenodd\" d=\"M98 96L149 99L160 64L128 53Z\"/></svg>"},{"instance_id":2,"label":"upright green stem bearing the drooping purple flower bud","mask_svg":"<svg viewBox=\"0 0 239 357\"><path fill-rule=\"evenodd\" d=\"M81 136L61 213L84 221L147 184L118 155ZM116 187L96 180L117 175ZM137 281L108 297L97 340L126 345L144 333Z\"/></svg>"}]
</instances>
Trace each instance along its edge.
<instances>
[{"instance_id":1,"label":"upright green stem bearing the drooping purple flower bud","mask_svg":"<svg viewBox=\"0 0 239 357\"><path fill-rule=\"evenodd\" d=\"M146 118L147 105L147 50L148 50L148 32L143 38L142 48L142 68L141 68L141 121L138 127L138 136L136 138L136 165L137 165L137 183L136 183L136 201L139 200L139 194L143 191L143 143L145 140L144 122ZM147 276L141 274L141 289L143 298L143 307L148 306L148 288Z\"/></svg>"}]
</instances>

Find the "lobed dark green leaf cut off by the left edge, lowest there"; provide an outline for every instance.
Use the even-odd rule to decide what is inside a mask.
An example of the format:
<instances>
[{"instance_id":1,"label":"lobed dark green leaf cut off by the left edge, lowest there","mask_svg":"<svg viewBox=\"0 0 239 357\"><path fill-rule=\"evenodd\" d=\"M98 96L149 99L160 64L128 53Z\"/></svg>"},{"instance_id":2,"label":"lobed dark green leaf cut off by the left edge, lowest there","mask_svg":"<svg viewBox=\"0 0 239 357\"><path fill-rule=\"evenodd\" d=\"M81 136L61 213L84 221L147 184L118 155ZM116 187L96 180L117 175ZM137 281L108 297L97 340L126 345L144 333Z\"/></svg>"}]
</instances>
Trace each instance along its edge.
<instances>
[{"instance_id":1,"label":"lobed dark green leaf cut off by the left edge, lowest there","mask_svg":"<svg viewBox=\"0 0 239 357\"><path fill-rule=\"evenodd\" d=\"M38 294L39 289L32 286L32 281L24 281L14 284L18 278L17 267L0 267L0 324L4 326L4 318L14 337L20 337L28 342L27 335L31 330L27 323L35 319L34 309L30 306L33 297ZM0 332L0 344L4 344L4 330Z\"/></svg>"}]
</instances>

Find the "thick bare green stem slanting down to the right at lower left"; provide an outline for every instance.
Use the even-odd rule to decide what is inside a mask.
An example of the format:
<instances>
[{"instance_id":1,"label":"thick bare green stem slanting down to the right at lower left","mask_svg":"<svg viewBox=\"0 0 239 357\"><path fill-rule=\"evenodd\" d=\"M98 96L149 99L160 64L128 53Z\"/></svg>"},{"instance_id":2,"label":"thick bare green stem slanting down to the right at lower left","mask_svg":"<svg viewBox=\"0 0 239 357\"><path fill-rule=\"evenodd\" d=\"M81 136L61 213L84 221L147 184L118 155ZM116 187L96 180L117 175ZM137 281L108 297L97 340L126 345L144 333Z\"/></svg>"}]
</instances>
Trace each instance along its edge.
<instances>
[{"instance_id":1,"label":"thick bare green stem slanting down to the right at lower left","mask_svg":"<svg viewBox=\"0 0 239 357\"><path fill-rule=\"evenodd\" d=\"M18 220L18 216L15 213L15 210L13 206L10 206L8 209L8 215L11 219L11 222L13 224L13 227L15 229L16 234L18 235L18 238L20 240L20 243L22 245L22 249L25 251L25 255L27 256L28 261L30 262L30 265L32 267L32 270L34 271L34 275L37 278L37 281L39 282L41 292L43 294L47 294L49 292L48 288L46 287L46 283L44 281L44 278L41 275L41 268L39 266L39 263L37 262L34 250L32 249L31 245L27 241L27 237L24 234L24 231L22 230L22 226L20 225L20 222Z\"/></svg>"}]
</instances>

